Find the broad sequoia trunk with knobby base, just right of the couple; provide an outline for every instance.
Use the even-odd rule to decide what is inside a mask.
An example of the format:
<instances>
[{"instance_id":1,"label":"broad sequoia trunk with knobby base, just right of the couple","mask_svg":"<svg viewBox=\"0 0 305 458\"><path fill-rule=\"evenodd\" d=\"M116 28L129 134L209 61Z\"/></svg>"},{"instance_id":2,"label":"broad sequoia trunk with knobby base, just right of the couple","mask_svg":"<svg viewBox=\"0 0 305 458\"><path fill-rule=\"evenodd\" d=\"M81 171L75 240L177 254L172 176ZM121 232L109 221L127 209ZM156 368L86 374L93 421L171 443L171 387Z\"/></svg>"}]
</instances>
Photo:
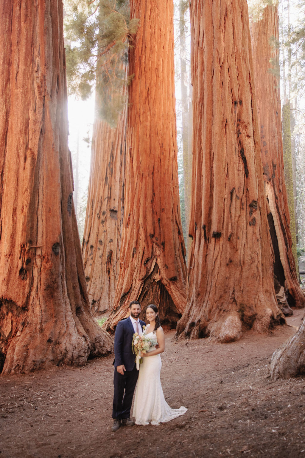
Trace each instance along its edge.
<instances>
[{"instance_id":1,"label":"broad sequoia trunk with knobby base, just right of the couple","mask_svg":"<svg viewBox=\"0 0 305 458\"><path fill-rule=\"evenodd\" d=\"M177 336L230 342L283 316L273 287L246 1L191 2L191 34L193 243Z\"/></svg>"}]
</instances>

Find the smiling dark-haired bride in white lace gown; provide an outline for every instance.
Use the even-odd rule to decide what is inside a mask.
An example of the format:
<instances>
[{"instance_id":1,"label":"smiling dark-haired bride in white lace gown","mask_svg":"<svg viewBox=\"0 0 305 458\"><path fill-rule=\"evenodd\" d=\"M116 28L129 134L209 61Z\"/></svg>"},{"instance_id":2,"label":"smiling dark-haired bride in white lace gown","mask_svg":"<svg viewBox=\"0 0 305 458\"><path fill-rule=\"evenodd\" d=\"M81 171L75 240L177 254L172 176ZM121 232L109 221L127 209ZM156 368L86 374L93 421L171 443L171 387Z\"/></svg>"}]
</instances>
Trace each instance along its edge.
<instances>
[{"instance_id":1,"label":"smiling dark-haired bride in white lace gown","mask_svg":"<svg viewBox=\"0 0 305 458\"><path fill-rule=\"evenodd\" d=\"M143 363L140 365L138 385L134 398L134 411L136 425L160 425L173 418L185 414L187 409L171 409L164 398L160 381L161 357L165 350L165 337L158 309L154 304L146 308L146 317L149 325L144 330L145 336L154 341L146 354L142 353ZM158 344L158 348L156 345Z\"/></svg>"}]
</instances>

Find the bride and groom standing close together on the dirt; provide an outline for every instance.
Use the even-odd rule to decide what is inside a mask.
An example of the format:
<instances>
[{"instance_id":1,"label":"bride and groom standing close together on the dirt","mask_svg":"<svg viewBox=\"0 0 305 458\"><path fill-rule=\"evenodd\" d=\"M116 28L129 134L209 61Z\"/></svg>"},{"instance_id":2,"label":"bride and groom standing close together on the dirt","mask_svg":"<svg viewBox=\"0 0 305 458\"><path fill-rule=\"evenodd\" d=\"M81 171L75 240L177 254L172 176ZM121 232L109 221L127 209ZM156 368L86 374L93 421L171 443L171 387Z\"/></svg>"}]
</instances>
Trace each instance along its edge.
<instances>
[{"instance_id":1,"label":"bride and groom standing close together on the dirt","mask_svg":"<svg viewBox=\"0 0 305 458\"><path fill-rule=\"evenodd\" d=\"M118 322L114 336L114 395L112 418L112 431L117 431L121 425L160 425L180 415L187 409L171 409L166 403L160 381L161 357L165 350L165 337L160 326L158 309L154 304L146 308L146 317L149 324L139 320L141 311L140 303L134 300L129 305L130 316ZM146 354L142 354L143 363L139 371L135 364L133 353L134 333L142 335L153 341ZM138 380L139 377L139 380ZM134 389L138 386L134 398L135 422L130 420L130 409L134 396Z\"/></svg>"}]
</instances>

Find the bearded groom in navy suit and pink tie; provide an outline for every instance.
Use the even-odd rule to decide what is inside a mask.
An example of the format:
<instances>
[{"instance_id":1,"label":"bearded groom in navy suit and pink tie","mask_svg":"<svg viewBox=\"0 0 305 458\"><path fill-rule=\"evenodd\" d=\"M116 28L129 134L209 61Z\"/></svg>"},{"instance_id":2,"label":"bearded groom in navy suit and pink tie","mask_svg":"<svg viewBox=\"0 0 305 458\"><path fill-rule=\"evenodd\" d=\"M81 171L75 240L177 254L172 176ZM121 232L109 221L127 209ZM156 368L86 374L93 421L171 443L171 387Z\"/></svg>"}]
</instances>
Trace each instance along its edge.
<instances>
[{"instance_id":1,"label":"bearded groom in navy suit and pink tie","mask_svg":"<svg viewBox=\"0 0 305 458\"><path fill-rule=\"evenodd\" d=\"M134 333L142 334L145 323L139 320L141 305L137 300L130 302L129 309L130 316L118 322L114 335L114 394L111 431L118 431L121 425L134 425L134 421L130 420L130 409L139 371L135 365L132 340Z\"/></svg>"}]
</instances>

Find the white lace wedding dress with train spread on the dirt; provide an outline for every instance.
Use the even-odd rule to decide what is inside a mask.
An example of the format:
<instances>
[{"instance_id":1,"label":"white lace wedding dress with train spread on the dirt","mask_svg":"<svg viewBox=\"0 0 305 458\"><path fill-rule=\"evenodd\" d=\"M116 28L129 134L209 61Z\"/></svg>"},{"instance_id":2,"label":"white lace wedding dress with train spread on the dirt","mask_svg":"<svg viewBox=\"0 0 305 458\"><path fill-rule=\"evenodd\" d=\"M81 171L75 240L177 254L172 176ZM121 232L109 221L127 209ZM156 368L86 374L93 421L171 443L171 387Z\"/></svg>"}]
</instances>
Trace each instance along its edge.
<instances>
[{"instance_id":1,"label":"white lace wedding dress with train spread on the dirt","mask_svg":"<svg viewBox=\"0 0 305 458\"><path fill-rule=\"evenodd\" d=\"M151 340L157 338L154 333L146 334ZM150 347L149 351L155 350ZM138 385L134 398L134 411L136 425L160 425L166 421L173 420L180 415L185 414L187 409L171 409L166 402L161 387L160 372L161 372L161 357L160 354L153 354L143 358L143 363L140 364Z\"/></svg>"}]
</instances>

